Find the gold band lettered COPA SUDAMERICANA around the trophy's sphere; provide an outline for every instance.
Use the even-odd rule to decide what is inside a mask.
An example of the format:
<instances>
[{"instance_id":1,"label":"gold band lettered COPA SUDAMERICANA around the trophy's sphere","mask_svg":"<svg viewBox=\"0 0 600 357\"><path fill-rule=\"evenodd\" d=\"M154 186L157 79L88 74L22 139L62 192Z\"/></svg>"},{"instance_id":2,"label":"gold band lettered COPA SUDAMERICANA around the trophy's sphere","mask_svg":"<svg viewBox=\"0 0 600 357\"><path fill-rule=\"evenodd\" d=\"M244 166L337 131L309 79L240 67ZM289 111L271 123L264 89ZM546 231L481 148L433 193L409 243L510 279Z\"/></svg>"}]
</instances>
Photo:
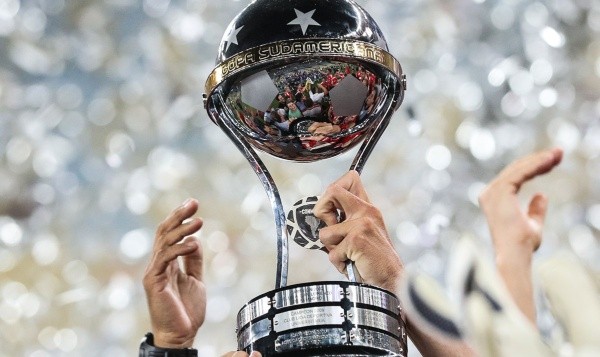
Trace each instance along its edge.
<instances>
[{"instance_id":1,"label":"gold band lettered COPA SUDAMERICANA around the trophy's sphere","mask_svg":"<svg viewBox=\"0 0 600 357\"><path fill-rule=\"evenodd\" d=\"M297 39L279 41L240 52L219 64L208 76L205 93L212 91L227 77L254 66L282 59L312 56L356 58L379 64L402 78L400 63L386 50L368 42L333 39Z\"/></svg>"}]
</instances>

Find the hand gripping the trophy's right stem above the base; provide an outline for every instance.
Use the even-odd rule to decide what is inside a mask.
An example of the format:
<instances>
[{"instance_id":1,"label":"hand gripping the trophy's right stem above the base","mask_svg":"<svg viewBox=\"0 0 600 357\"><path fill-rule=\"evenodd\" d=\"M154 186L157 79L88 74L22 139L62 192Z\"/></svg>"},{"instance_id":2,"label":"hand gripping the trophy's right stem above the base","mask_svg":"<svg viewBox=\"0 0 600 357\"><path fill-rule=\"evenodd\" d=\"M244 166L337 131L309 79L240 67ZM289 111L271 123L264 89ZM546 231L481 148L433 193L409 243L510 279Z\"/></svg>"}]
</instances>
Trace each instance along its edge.
<instances>
[{"instance_id":1,"label":"hand gripping the trophy's right stem above the base","mask_svg":"<svg viewBox=\"0 0 600 357\"><path fill-rule=\"evenodd\" d=\"M338 210L344 217L341 222ZM313 214L327 224L319 231L319 239L341 273L347 274L346 263L351 260L365 283L396 291L403 264L358 172L349 171L332 183L315 204Z\"/></svg>"}]
</instances>

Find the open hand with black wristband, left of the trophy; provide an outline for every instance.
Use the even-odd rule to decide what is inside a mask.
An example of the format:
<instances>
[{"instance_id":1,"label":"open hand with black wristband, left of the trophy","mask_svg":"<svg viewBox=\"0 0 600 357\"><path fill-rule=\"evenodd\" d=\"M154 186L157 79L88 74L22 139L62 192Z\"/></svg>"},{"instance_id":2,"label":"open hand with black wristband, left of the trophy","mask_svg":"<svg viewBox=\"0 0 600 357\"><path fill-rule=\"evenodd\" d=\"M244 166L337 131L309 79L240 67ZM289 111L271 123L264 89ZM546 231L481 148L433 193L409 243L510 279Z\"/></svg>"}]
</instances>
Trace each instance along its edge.
<instances>
[{"instance_id":1,"label":"open hand with black wristband, left of the trophy","mask_svg":"<svg viewBox=\"0 0 600 357\"><path fill-rule=\"evenodd\" d=\"M154 344L162 348L191 347L206 313L202 281L202 248L189 235L202 227L192 218L198 201L188 199L158 226L153 255L143 278ZM178 257L183 258L183 269Z\"/></svg>"}]
</instances>

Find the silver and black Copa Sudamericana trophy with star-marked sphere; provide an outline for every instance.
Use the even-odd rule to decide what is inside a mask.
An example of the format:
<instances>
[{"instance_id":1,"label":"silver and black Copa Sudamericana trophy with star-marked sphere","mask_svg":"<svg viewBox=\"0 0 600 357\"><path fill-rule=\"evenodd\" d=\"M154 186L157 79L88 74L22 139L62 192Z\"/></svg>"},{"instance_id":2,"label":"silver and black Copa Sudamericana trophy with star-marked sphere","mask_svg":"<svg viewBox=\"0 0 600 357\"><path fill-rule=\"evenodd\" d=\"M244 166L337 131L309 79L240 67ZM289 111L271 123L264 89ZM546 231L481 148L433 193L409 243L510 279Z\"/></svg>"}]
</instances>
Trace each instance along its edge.
<instances>
[{"instance_id":1,"label":"silver and black Copa Sudamericana trophy with star-marked sphere","mask_svg":"<svg viewBox=\"0 0 600 357\"><path fill-rule=\"evenodd\" d=\"M354 1L255 0L229 24L204 104L260 179L277 228L275 289L239 311L239 350L263 356L406 356L399 300L361 283L352 262L348 281L287 286L288 238L321 247L323 223L312 215L318 198L299 200L286 215L255 151L314 162L362 142L350 166L360 173L405 89L406 77L380 28Z\"/></svg>"}]
</instances>

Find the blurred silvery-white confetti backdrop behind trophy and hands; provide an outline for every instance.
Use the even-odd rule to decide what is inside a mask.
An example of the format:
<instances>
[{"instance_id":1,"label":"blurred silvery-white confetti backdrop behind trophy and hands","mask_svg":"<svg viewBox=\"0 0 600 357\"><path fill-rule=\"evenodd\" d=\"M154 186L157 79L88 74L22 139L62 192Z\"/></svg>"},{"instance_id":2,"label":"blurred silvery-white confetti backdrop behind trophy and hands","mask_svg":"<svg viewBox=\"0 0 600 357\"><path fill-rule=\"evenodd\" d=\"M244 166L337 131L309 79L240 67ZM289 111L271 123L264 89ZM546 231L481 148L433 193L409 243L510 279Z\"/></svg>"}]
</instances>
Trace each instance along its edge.
<instances>
[{"instance_id":1,"label":"blurred silvery-white confetti backdrop behind trophy and hands","mask_svg":"<svg viewBox=\"0 0 600 357\"><path fill-rule=\"evenodd\" d=\"M408 74L363 173L402 258L441 279L457 238L491 254L478 193L513 159L560 146L561 166L524 187L550 198L537 257L571 250L598 274L600 1L359 3ZM275 225L201 96L246 4L0 0L0 356L136 355L154 229L187 197L205 220L196 346L235 349L238 309L274 287ZM289 207L354 153L264 160ZM321 252L290 255L290 284L341 279Z\"/></svg>"}]
</instances>

